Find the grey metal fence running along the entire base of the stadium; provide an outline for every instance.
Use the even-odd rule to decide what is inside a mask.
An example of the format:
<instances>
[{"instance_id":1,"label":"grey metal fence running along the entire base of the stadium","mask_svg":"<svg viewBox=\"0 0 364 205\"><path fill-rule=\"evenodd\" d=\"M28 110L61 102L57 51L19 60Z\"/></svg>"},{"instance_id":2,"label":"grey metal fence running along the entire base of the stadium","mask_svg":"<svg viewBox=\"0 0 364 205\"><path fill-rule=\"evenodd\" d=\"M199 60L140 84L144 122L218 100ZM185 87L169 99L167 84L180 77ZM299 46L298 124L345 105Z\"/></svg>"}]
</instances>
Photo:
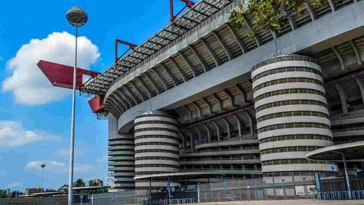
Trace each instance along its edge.
<instances>
[{"instance_id":1,"label":"grey metal fence running along the entire base of the stadium","mask_svg":"<svg viewBox=\"0 0 364 205\"><path fill-rule=\"evenodd\" d=\"M364 199L364 178L355 169L348 169L351 192L346 184L345 171L306 173L300 175L255 179L221 179L199 185L200 202L253 200L345 200ZM191 195L196 194L196 196ZM147 190L93 194L92 205L163 205L198 201L197 193L174 193L173 201L164 200L165 193L153 190L148 201ZM195 197L193 199L193 197ZM161 200L158 200L161 198ZM178 198L178 199L177 199ZM190 198L190 199L189 199Z\"/></svg>"}]
</instances>

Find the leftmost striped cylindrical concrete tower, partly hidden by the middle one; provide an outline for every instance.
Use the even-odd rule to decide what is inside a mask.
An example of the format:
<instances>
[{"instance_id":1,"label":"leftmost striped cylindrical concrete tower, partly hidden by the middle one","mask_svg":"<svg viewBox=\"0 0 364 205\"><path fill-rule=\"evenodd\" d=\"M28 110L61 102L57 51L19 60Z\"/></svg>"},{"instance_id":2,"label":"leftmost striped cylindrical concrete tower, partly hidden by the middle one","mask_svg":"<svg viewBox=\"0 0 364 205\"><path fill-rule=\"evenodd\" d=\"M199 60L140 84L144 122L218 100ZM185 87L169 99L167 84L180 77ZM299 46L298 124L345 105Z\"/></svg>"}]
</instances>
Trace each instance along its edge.
<instances>
[{"instance_id":1,"label":"leftmost striped cylindrical concrete tower, partly hidden by the middle one","mask_svg":"<svg viewBox=\"0 0 364 205\"><path fill-rule=\"evenodd\" d=\"M135 189L134 181L134 136L131 133L119 134L118 133L118 121L109 113L108 119L108 163L113 168L108 168L108 171L114 171L114 173L108 173L110 177L109 184L113 189L111 192L120 192Z\"/></svg>"}]
</instances>

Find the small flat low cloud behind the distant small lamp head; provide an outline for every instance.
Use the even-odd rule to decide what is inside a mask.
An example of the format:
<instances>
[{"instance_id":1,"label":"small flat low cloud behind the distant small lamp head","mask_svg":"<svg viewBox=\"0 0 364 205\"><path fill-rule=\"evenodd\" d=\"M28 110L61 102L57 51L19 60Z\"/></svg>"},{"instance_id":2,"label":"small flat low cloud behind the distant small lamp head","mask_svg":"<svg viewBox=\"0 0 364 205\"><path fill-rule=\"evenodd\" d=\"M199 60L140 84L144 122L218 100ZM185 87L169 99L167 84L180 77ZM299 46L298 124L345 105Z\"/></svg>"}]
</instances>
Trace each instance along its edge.
<instances>
[{"instance_id":1,"label":"small flat low cloud behind the distant small lamp head","mask_svg":"<svg viewBox=\"0 0 364 205\"><path fill-rule=\"evenodd\" d=\"M41 164L45 164L46 167L44 169L50 169L53 173L68 173L69 165L66 165L63 162L55 162L55 161L48 161L48 160L35 160L28 162L25 167L27 169L42 169L40 167ZM74 164L73 171L74 173L88 173L92 169L92 165L88 164Z\"/></svg>"}]
</instances>

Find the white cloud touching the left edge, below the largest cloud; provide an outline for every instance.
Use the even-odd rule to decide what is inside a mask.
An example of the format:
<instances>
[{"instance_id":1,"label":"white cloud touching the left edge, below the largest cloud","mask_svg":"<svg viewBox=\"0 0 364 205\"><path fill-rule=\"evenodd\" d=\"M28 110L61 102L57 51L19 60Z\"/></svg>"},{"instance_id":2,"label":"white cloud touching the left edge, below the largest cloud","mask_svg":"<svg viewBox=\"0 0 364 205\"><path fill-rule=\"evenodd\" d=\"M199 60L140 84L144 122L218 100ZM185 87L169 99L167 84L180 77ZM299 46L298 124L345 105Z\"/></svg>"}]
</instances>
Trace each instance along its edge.
<instances>
[{"instance_id":1,"label":"white cloud touching the left edge, below the largest cloud","mask_svg":"<svg viewBox=\"0 0 364 205\"><path fill-rule=\"evenodd\" d=\"M0 121L0 147L15 147L41 140L60 139L60 136L44 131L26 130L16 121Z\"/></svg>"}]
</instances>

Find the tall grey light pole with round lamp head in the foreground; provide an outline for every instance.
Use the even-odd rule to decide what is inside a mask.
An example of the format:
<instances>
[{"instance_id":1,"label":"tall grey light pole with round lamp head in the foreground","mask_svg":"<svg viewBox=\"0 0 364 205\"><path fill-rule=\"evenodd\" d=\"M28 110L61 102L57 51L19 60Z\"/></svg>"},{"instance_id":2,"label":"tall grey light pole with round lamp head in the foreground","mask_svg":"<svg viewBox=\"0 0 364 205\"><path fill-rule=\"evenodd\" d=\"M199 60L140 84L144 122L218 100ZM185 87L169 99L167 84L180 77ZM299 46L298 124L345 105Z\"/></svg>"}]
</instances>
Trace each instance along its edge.
<instances>
[{"instance_id":1,"label":"tall grey light pole with round lamp head in the foreground","mask_svg":"<svg viewBox=\"0 0 364 205\"><path fill-rule=\"evenodd\" d=\"M76 27L76 52L75 67L73 68L73 96L72 96L72 120L71 120L71 149L70 149L70 176L68 180L68 205L73 205L73 147L75 141L75 95L76 95L76 65L77 65L77 28L87 22L87 13L81 7L71 7L66 13L68 23Z\"/></svg>"}]
</instances>

